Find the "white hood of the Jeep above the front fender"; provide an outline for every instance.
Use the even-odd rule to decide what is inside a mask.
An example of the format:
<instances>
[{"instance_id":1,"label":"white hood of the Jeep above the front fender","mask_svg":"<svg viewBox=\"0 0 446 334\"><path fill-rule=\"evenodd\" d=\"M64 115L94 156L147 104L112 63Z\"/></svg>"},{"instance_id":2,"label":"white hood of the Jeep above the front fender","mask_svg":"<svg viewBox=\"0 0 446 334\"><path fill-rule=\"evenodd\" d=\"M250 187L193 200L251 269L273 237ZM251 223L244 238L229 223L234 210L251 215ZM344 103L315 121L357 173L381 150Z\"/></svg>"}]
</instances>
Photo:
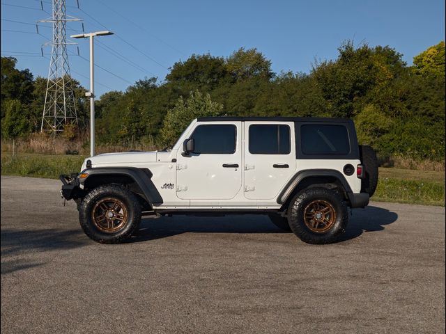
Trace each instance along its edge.
<instances>
[{"instance_id":1,"label":"white hood of the Jeep above the front fender","mask_svg":"<svg viewBox=\"0 0 446 334\"><path fill-rule=\"evenodd\" d=\"M86 161L91 160L93 168L105 166L132 166L134 164L144 164L156 161L157 151L153 152L123 152L105 153L86 158L82 168L85 168Z\"/></svg>"}]
</instances>

